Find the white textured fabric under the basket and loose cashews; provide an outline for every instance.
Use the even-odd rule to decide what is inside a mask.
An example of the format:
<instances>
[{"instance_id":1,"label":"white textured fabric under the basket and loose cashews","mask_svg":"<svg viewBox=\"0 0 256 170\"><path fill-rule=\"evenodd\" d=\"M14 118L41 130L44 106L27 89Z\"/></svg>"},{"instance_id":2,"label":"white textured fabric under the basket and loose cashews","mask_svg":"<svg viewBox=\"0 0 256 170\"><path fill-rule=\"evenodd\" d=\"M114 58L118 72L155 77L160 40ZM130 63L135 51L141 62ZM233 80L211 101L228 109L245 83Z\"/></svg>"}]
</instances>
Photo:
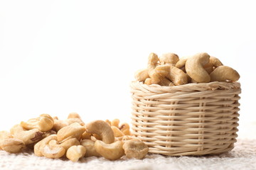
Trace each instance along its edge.
<instances>
[{"instance_id":1,"label":"white textured fabric under the basket and loose cashews","mask_svg":"<svg viewBox=\"0 0 256 170\"><path fill-rule=\"evenodd\" d=\"M104 158L83 158L80 162L68 159L47 159L36 157L33 152L9 154L0 151L0 169L256 169L256 140L238 139L235 148L223 154L201 157L165 157L159 154L149 154L145 159L127 159L122 157L117 161Z\"/></svg>"}]
</instances>

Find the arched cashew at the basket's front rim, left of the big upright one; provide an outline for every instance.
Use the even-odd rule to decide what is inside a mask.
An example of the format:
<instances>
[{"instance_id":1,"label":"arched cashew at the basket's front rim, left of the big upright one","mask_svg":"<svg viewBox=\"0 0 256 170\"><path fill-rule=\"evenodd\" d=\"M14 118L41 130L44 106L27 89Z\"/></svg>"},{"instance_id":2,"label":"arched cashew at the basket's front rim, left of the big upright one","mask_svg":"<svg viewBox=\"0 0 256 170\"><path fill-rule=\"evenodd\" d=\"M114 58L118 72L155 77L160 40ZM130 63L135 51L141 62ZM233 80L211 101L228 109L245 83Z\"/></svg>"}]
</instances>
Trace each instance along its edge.
<instances>
[{"instance_id":1,"label":"arched cashew at the basket's front rim, left of the big upright one","mask_svg":"<svg viewBox=\"0 0 256 170\"><path fill-rule=\"evenodd\" d=\"M173 81L175 85L188 83L188 77L186 73L177 67L171 65L159 65L156 67L156 72Z\"/></svg>"}]
</instances>

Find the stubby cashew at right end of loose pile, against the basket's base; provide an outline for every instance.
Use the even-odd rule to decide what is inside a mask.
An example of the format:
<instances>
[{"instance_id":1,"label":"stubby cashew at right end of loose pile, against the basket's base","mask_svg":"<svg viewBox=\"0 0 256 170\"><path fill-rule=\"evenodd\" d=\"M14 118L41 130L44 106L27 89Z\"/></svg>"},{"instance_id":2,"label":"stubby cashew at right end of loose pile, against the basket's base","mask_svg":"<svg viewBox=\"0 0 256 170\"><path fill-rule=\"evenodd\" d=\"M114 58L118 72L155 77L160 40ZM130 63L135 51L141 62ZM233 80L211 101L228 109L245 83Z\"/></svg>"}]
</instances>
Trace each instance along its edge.
<instances>
[{"instance_id":1,"label":"stubby cashew at right end of loose pile, against the basket's base","mask_svg":"<svg viewBox=\"0 0 256 170\"><path fill-rule=\"evenodd\" d=\"M149 152L149 147L141 140L127 140L123 145L124 153L127 158L142 159Z\"/></svg>"}]
</instances>

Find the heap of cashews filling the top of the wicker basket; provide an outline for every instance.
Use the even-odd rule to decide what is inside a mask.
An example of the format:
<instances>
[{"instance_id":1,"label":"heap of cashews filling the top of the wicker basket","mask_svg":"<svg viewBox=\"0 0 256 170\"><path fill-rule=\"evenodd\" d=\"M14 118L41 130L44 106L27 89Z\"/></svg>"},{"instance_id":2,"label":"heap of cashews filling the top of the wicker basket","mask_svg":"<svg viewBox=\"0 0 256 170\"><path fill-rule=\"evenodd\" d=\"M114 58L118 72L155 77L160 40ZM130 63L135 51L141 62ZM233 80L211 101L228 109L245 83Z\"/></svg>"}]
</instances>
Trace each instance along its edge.
<instances>
[{"instance_id":1,"label":"heap of cashews filling the top of the wicker basket","mask_svg":"<svg viewBox=\"0 0 256 170\"><path fill-rule=\"evenodd\" d=\"M178 57L165 53L158 57L151 53L146 69L139 69L135 79L144 84L178 86L188 83L209 83L211 81L238 81L240 75L235 69L224 66L218 58L206 52L189 57Z\"/></svg>"}]
</instances>

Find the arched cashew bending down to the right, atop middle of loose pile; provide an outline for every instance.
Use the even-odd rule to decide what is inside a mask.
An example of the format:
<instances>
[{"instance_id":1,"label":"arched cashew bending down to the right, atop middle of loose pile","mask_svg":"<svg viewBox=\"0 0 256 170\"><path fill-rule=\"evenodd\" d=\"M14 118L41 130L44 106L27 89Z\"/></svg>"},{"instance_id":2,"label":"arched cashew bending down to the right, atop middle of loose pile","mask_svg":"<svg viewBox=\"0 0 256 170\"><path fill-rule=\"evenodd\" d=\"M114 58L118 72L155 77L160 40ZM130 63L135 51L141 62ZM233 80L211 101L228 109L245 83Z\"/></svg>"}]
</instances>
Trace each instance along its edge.
<instances>
[{"instance_id":1,"label":"arched cashew bending down to the right, atop middle of loose pile","mask_svg":"<svg viewBox=\"0 0 256 170\"><path fill-rule=\"evenodd\" d=\"M109 124L103 120L95 120L86 125L88 133L100 135L102 141L110 144L114 142L114 132Z\"/></svg>"}]
</instances>

